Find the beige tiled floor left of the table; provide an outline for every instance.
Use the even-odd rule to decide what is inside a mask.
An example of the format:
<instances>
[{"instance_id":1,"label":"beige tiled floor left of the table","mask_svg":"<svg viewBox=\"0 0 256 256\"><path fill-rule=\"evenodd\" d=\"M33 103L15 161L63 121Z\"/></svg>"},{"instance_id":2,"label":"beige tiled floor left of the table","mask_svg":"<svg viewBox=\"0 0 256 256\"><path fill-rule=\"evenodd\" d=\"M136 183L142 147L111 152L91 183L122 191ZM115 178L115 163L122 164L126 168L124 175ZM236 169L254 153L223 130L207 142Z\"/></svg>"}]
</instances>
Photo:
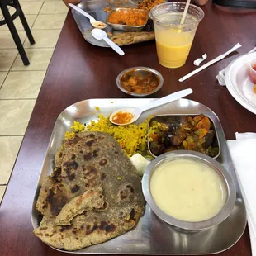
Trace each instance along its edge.
<instances>
[{"instance_id":1,"label":"beige tiled floor left of the table","mask_svg":"<svg viewBox=\"0 0 256 256\"><path fill-rule=\"evenodd\" d=\"M68 12L62 0L20 2L36 44L30 45L17 18L14 24L31 62L24 66L7 25L0 26L0 202Z\"/></svg>"}]
</instances>

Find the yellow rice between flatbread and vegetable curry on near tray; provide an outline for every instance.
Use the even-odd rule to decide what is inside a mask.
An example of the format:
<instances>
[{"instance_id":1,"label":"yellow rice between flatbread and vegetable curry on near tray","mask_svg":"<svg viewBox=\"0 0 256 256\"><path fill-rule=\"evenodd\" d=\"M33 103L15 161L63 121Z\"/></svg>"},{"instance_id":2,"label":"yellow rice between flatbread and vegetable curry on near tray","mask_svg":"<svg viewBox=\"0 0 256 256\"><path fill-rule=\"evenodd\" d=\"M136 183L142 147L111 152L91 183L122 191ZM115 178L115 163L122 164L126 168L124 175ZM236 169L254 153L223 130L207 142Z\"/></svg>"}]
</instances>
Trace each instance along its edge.
<instances>
[{"instance_id":1,"label":"yellow rice between flatbread and vegetable curry on near tray","mask_svg":"<svg viewBox=\"0 0 256 256\"><path fill-rule=\"evenodd\" d=\"M105 117L100 114L97 121L90 121L86 127L78 121L74 121L73 126L70 127L71 131L65 133L65 139L73 138L77 132L102 131L112 135L128 157L136 153L145 154L147 151L147 129L151 117L149 116L140 125L115 126L109 121L109 116Z\"/></svg>"}]
</instances>

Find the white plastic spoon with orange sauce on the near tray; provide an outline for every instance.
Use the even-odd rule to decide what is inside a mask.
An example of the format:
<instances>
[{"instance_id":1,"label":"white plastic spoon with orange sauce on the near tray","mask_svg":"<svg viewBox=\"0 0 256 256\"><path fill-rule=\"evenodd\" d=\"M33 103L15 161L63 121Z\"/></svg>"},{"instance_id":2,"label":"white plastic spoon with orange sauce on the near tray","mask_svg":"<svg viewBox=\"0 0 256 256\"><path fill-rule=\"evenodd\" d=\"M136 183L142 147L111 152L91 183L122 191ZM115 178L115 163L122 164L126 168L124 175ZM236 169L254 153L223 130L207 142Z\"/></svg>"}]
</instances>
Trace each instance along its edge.
<instances>
[{"instance_id":1,"label":"white plastic spoon with orange sauce on the near tray","mask_svg":"<svg viewBox=\"0 0 256 256\"><path fill-rule=\"evenodd\" d=\"M122 108L117 111L114 111L111 116L109 117L109 120L114 125L129 125L133 122L135 122L141 115L142 112L149 110L154 107L159 107L164 104L167 104L169 102L174 102L182 97L186 97L187 95L191 94L193 91L192 89L185 89L182 91L174 92L172 94L169 94L168 96L161 97L158 100L155 100L154 102L149 102L149 104L145 105L144 107L138 107L138 108ZM127 121L126 123L118 123L117 116L118 115L124 115L124 113L127 113L127 116L131 117L130 121ZM117 114L117 115L116 115ZM125 114L126 115L126 114Z\"/></svg>"}]
</instances>

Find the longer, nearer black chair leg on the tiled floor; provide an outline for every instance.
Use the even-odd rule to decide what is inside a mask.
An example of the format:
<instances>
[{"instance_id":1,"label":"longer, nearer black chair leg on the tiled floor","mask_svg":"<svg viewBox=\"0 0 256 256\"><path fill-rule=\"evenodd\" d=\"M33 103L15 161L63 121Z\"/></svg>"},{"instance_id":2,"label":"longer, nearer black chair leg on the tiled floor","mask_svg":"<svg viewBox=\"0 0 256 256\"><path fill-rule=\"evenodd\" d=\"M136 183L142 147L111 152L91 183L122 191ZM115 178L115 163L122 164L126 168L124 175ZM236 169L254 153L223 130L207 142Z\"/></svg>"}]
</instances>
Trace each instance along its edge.
<instances>
[{"instance_id":1,"label":"longer, nearer black chair leg on the tiled floor","mask_svg":"<svg viewBox=\"0 0 256 256\"><path fill-rule=\"evenodd\" d=\"M23 48L23 45L21 43L21 39L20 39L20 37L17 33L17 30L16 30L16 27L13 24L12 17L10 16L7 5L1 4L1 2L0 2L0 7L2 9L2 15L3 15L5 21L7 22L7 26L9 27L9 30L12 34L12 38L13 38L16 46L17 46L17 50L19 51L19 53L21 55L21 59L23 61L23 64L25 66L27 66L27 65L30 64L30 62L27 59L26 52Z\"/></svg>"}]
</instances>

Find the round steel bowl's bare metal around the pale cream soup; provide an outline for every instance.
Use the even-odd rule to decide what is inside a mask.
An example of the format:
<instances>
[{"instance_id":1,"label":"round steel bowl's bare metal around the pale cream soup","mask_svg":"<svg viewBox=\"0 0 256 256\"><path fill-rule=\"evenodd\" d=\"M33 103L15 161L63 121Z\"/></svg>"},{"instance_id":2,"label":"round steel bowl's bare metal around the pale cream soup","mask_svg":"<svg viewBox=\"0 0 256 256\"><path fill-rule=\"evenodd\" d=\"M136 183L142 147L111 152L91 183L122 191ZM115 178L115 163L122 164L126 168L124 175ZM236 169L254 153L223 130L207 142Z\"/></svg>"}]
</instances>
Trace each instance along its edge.
<instances>
[{"instance_id":1,"label":"round steel bowl's bare metal around the pale cream soup","mask_svg":"<svg viewBox=\"0 0 256 256\"><path fill-rule=\"evenodd\" d=\"M226 186L227 198L225 201L225 206L223 206L223 208L216 216L204 221L183 221L175 219L173 218L173 216L169 216L164 211L162 211L159 206L157 206L150 192L150 179L152 177L152 174L154 173L154 170L156 169L156 167L159 166L159 164L163 164L165 161L171 161L174 159L190 159L199 163L207 164L208 166L213 168L223 179ZM214 225L218 225L228 216L230 216L230 213L233 210L236 201L235 184L233 183L230 173L228 173L225 168L215 159L211 159L211 157L205 154L201 154L191 150L172 151L161 154L159 157L154 159L146 168L146 171L142 178L142 191L145 200L147 201L151 210L154 211L156 216L158 216L159 219L164 220L164 222L168 223L169 225L178 228L178 230L199 231L211 228Z\"/></svg>"}]
</instances>

